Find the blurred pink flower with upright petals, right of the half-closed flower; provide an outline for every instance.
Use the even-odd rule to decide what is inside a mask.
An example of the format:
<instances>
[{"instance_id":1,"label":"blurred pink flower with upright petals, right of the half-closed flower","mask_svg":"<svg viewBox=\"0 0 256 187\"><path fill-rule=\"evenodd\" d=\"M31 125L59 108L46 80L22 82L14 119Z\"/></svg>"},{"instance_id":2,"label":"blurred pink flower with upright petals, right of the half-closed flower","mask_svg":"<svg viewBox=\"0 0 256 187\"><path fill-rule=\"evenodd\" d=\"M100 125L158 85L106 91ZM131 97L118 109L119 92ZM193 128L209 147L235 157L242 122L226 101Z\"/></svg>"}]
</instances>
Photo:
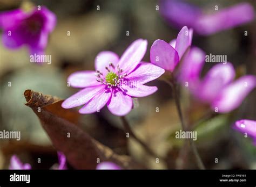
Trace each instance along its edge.
<instances>
[{"instance_id":1,"label":"blurred pink flower with upright petals, right of the half-closed flower","mask_svg":"<svg viewBox=\"0 0 256 187\"><path fill-rule=\"evenodd\" d=\"M230 62L213 66L203 80L199 75L203 67L203 51L197 51L198 60L185 58L184 65L190 63L190 67L184 66L184 73L188 74L188 88L201 102L211 105L213 110L227 113L236 109L242 100L256 87L256 77L245 75L234 80L235 70ZM196 68L193 68L196 67ZM192 78L191 78L192 77ZM191 79L190 79L191 78ZM183 79L183 81L186 81Z\"/></svg>"}]
</instances>

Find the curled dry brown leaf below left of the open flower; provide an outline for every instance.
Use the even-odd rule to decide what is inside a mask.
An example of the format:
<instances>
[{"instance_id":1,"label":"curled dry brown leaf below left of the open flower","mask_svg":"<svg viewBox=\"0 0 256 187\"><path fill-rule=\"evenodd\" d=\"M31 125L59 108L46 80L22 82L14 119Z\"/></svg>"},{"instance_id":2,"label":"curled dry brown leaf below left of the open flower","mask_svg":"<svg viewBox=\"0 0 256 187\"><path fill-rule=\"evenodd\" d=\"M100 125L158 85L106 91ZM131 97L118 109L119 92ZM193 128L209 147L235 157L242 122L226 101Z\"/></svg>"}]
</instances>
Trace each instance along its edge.
<instances>
[{"instance_id":1,"label":"curled dry brown leaf below left of the open flower","mask_svg":"<svg viewBox=\"0 0 256 187\"><path fill-rule=\"evenodd\" d=\"M124 169L144 168L129 156L117 155L75 125L79 113L63 109L63 100L32 90L25 90L24 96L25 105L36 113L53 146L65 154L75 169L95 169L97 159L114 162Z\"/></svg>"}]
</instances>

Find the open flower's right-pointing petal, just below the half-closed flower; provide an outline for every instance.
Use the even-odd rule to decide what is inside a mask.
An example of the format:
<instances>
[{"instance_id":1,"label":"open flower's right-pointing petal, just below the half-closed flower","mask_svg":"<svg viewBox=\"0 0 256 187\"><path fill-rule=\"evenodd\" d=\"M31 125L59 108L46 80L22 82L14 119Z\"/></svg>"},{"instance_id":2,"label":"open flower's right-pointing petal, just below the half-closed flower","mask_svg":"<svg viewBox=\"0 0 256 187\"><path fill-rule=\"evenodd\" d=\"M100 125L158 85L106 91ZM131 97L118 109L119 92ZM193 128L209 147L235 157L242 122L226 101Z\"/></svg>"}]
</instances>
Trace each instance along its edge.
<instances>
[{"instance_id":1,"label":"open flower's right-pointing petal, just below the half-closed flower","mask_svg":"<svg viewBox=\"0 0 256 187\"><path fill-rule=\"evenodd\" d=\"M145 84L160 77L164 72L164 69L155 66L152 63L143 62L139 63L136 69L126 76L126 78L130 81L138 82L139 84Z\"/></svg>"}]
</instances>

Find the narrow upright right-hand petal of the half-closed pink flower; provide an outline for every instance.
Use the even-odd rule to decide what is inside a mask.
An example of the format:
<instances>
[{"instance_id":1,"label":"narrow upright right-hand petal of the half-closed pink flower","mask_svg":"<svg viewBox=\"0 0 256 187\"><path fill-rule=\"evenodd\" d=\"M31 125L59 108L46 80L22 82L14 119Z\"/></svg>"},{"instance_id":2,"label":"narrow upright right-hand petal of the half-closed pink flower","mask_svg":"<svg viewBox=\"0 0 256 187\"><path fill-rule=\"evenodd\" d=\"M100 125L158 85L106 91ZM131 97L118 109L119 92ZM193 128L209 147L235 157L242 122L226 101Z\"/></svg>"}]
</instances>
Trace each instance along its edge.
<instances>
[{"instance_id":1,"label":"narrow upright right-hand petal of the half-closed pink flower","mask_svg":"<svg viewBox=\"0 0 256 187\"><path fill-rule=\"evenodd\" d=\"M191 31L188 30L187 26L184 26L178 34L175 49L179 54L179 59L181 59L187 47L191 45L192 36L190 36L190 33Z\"/></svg>"}]
</instances>

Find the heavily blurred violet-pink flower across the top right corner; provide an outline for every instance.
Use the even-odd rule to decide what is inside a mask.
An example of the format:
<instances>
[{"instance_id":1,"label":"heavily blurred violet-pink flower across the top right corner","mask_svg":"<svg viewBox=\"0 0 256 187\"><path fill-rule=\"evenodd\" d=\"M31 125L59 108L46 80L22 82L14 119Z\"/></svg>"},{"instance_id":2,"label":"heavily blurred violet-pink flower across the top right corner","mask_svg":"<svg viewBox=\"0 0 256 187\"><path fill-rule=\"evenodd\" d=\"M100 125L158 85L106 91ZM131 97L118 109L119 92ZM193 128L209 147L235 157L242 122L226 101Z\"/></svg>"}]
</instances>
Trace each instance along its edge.
<instances>
[{"instance_id":1,"label":"heavily blurred violet-pink flower across the top right corner","mask_svg":"<svg viewBox=\"0 0 256 187\"><path fill-rule=\"evenodd\" d=\"M239 3L209 14L181 0L161 0L160 12L172 26L181 28L187 25L201 35L227 30L254 19L253 7L248 3Z\"/></svg>"}]
</instances>

